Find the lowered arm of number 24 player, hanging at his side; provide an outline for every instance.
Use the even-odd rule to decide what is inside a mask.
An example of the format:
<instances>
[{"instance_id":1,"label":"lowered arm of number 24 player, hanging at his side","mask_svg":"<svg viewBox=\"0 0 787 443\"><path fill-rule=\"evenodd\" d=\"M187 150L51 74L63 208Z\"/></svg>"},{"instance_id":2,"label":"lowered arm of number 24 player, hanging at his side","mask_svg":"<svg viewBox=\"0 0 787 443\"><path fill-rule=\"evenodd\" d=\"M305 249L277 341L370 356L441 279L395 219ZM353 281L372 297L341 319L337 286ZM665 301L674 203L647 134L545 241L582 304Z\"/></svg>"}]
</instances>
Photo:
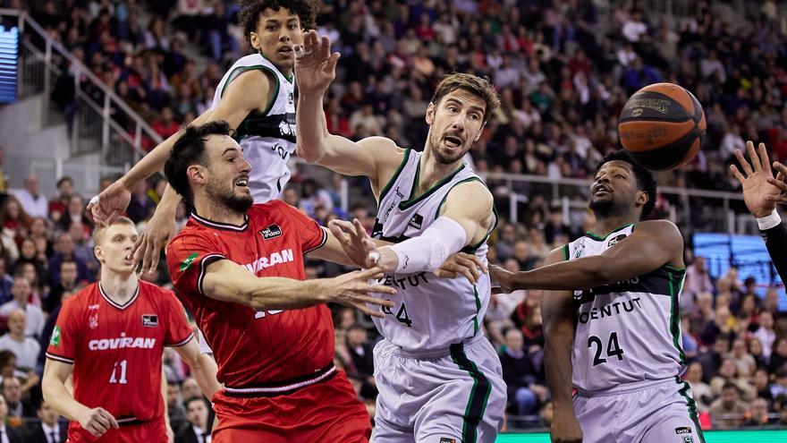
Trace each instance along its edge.
<instances>
[{"instance_id":1,"label":"lowered arm of number 24 player, hanging at his side","mask_svg":"<svg viewBox=\"0 0 787 443\"><path fill-rule=\"evenodd\" d=\"M546 256L546 266L565 260L563 248ZM574 344L574 320L571 291L546 291L541 299L544 320L544 366L546 382L552 394L554 421L552 440L582 441L582 430L571 401L571 350Z\"/></svg>"}]
</instances>

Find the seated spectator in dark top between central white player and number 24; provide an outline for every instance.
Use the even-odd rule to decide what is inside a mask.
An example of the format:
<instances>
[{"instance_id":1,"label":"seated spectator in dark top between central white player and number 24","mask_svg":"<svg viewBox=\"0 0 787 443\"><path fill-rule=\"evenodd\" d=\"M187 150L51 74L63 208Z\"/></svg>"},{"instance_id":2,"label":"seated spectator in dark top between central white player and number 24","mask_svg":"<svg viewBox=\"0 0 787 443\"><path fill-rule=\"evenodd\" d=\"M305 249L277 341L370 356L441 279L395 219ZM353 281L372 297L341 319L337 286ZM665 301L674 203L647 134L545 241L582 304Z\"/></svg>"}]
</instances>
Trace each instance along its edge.
<instances>
[{"instance_id":1,"label":"seated spectator in dark top between central white player and number 24","mask_svg":"<svg viewBox=\"0 0 787 443\"><path fill-rule=\"evenodd\" d=\"M537 382L536 368L530 354L523 347L522 333L511 328L505 333L505 348L500 354L503 379L508 387L509 405L515 407L517 415L529 415L537 411L540 400L546 399L548 391Z\"/></svg>"}]
</instances>

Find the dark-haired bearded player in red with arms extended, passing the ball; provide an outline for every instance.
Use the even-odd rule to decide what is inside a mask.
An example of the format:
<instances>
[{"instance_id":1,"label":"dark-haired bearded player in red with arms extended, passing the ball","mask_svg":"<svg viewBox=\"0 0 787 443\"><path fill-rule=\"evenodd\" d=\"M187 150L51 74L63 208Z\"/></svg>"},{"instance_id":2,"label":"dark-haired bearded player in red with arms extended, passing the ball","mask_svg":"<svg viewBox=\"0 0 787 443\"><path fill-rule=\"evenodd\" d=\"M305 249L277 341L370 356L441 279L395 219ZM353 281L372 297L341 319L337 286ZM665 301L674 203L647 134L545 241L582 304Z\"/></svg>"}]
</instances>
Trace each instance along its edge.
<instances>
[{"instance_id":1,"label":"dark-haired bearded player in red with arms extended, passing the ball","mask_svg":"<svg viewBox=\"0 0 787 443\"><path fill-rule=\"evenodd\" d=\"M303 254L352 264L338 240L283 201L253 205L250 165L225 122L190 126L165 164L173 189L195 209L167 247L182 302L214 351L224 389L213 396L213 442L360 442L366 407L334 367L326 302L382 317L391 302L370 293L382 268L305 280ZM259 278L262 277L262 278Z\"/></svg>"}]
</instances>

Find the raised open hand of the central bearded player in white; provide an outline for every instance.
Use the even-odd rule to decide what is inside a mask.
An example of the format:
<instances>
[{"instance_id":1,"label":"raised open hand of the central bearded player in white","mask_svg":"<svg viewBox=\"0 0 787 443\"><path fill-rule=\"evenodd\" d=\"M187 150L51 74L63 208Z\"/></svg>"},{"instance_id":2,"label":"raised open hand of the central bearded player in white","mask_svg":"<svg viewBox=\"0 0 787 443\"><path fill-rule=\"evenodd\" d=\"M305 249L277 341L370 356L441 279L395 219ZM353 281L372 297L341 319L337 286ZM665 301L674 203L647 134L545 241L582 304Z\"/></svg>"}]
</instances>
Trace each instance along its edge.
<instances>
[{"instance_id":1,"label":"raised open hand of the central bearded player in white","mask_svg":"<svg viewBox=\"0 0 787 443\"><path fill-rule=\"evenodd\" d=\"M339 53L331 53L331 40L317 36L316 30L303 35L303 45L295 47L295 81L304 93L322 94L336 77Z\"/></svg>"}]
</instances>

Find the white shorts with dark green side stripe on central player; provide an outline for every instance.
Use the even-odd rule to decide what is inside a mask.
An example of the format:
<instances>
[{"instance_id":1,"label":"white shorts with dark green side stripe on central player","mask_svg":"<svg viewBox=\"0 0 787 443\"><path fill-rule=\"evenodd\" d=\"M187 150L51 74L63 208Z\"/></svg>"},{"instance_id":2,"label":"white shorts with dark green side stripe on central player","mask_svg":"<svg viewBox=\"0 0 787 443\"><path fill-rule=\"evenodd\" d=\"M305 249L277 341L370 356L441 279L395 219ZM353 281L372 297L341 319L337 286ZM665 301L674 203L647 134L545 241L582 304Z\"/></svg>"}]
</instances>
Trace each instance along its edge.
<instances>
[{"instance_id":1,"label":"white shorts with dark green side stripe on central player","mask_svg":"<svg viewBox=\"0 0 787 443\"><path fill-rule=\"evenodd\" d=\"M428 352L383 340L375 380L375 443L490 443L503 424L503 370L483 334Z\"/></svg>"}]
</instances>

